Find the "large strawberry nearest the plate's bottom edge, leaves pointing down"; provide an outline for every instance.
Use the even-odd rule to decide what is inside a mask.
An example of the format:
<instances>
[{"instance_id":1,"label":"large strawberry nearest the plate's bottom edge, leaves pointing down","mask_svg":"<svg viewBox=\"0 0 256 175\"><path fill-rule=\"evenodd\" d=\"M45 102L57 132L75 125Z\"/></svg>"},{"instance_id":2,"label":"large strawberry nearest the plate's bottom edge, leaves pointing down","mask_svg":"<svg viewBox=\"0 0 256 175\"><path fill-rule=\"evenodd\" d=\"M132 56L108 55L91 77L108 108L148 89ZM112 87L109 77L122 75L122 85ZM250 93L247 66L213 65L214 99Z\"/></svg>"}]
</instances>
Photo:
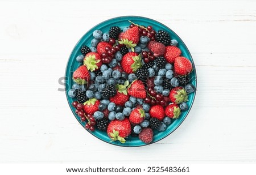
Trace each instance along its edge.
<instances>
[{"instance_id":1,"label":"large strawberry nearest the plate's bottom edge, leaves pointing down","mask_svg":"<svg viewBox=\"0 0 256 175\"><path fill-rule=\"evenodd\" d=\"M128 118L119 121L114 119L109 123L107 134L113 141L119 140L121 143L125 143L125 138L131 134L131 124Z\"/></svg>"}]
</instances>

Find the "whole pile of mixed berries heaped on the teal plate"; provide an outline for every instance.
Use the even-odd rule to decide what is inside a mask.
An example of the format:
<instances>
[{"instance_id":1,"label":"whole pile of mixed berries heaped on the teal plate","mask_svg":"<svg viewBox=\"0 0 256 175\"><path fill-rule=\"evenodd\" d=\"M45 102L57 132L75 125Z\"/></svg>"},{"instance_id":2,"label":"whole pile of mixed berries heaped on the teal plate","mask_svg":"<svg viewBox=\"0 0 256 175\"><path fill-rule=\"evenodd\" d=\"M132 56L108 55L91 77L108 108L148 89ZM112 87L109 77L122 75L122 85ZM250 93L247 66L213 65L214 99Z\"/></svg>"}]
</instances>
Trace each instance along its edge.
<instances>
[{"instance_id":1,"label":"whole pile of mixed berries heaped on the teal plate","mask_svg":"<svg viewBox=\"0 0 256 175\"><path fill-rule=\"evenodd\" d=\"M166 130L188 110L188 94L196 90L189 83L193 67L168 32L130 23L92 33L91 46L82 46L76 58L81 64L68 95L89 131L148 144L154 130Z\"/></svg>"}]
</instances>

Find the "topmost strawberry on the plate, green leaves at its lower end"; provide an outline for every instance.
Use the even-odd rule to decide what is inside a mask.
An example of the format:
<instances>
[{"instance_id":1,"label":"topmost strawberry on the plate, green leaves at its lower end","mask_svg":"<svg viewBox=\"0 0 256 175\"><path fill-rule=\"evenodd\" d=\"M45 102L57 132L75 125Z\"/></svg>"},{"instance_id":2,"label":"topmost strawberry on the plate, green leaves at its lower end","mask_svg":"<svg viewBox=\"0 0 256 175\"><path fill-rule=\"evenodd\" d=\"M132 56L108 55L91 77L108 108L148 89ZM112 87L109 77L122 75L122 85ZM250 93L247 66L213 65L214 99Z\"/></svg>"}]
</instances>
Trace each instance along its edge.
<instances>
[{"instance_id":1,"label":"topmost strawberry on the plate, green leaves at its lower end","mask_svg":"<svg viewBox=\"0 0 256 175\"><path fill-rule=\"evenodd\" d=\"M120 33L119 39L119 44L126 45L127 48L131 48L134 52L134 47L139 43L139 27L134 26L124 33Z\"/></svg>"}]
</instances>

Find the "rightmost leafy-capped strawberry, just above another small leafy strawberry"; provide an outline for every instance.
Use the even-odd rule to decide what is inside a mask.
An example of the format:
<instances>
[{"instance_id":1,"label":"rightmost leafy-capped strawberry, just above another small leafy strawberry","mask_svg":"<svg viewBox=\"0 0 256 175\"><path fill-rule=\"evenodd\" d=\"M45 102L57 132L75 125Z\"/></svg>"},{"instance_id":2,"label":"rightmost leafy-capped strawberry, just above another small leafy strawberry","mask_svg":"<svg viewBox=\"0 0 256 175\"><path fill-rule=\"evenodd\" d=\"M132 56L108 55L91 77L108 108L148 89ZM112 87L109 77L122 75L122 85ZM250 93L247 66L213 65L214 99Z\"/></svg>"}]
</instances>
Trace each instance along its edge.
<instances>
[{"instance_id":1,"label":"rightmost leafy-capped strawberry, just above another small leafy strawberry","mask_svg":"<svg viewBox=\"0 0 256 175\"><path fill-rule=\"evenodd\" d=\"M169 98L172 103L180 104L188 101L188 94L183 87L176 87L171 89Z\"/></svg>"}]
</instances>

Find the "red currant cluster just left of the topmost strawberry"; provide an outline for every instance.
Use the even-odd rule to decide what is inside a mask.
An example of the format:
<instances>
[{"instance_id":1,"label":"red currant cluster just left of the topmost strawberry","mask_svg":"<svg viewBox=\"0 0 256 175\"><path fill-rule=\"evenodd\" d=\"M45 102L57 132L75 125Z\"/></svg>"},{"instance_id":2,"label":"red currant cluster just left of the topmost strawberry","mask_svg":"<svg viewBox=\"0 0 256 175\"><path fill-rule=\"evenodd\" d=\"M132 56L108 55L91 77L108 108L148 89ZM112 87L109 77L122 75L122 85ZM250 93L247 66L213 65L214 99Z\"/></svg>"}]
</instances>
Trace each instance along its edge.
<instances>
[{"instance_id":1,"label":"red currant cluster just left of the topmost strawberry","mask_svg":"<svg viewBox=\"0 0 256 175\"><path fill-rule=\"evenodd\" d=\"M115 44L115 39L110 38L109 39L109 44L110 45L114 45ZM104 53L101 54L101 61L104 64L109 64L112 59L115 57L115 53L122 47L123 45L119 44L119 45L115 45L112 48L110 48L109 46L106 46Z\"/></svg>"}]
</instances>

